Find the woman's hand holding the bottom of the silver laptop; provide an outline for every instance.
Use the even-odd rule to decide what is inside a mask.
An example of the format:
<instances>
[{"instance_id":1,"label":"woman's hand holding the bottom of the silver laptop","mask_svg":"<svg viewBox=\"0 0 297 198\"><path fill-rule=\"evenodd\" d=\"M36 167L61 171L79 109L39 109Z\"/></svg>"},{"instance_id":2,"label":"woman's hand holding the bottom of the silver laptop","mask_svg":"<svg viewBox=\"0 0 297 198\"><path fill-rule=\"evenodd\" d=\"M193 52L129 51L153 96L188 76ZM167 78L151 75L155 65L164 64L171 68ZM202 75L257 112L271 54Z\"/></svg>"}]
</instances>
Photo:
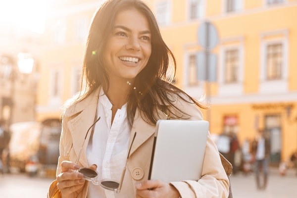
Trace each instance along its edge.
<instances>
[{"instance_id":1,"label":"woman's hand holding the bottom of the silver laptop","mask_svg":"<svg viewBox=\"0 0 297 198\"><path fill-rule=\"evenodd\" d=\"M147 180L136 185L136 198L179 198L176 188L159 180Z\"/></svg>"}]
</instances>

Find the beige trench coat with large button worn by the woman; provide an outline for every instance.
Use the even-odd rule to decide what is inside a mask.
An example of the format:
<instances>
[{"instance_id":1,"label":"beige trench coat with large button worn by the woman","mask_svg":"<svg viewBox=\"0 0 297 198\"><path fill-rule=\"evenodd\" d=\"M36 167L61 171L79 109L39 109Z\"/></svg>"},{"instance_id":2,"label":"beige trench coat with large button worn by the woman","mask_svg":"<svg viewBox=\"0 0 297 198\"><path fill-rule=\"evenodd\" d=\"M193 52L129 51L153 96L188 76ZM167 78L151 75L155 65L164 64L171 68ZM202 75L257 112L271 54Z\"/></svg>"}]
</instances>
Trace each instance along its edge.
<instances>
[{"instance_id":1,"label":"beige trench coat with large button worn by the woman","mask_svg":"<svg viewBox=\"0 0 297 198\"><path fill-rule=\"evenodd\" d=\"M75 161L81 148L88 128L95 120L99 89L94 91L89 97L79 103L70 106L63 114L62 133L60 139L60 156L56 174L61 172L61 162L63 160ZM176 100L176 105L191 115L191 120L201 120L200 110L192 103L181 99ZM100 110L100 109L99 109ZM167 119L167 115L162 111L157 112L160 119ZM149 164L153 145L155 126L149 125L141 116L137 109L131 130L131 138L135 132L137 136L131 148L130 156L127 161L125 179L132 179L134 186L148 179ZM86 141L89 142L91 133L88 134ZM129 144L129 145L130 145ZM86 156L87 144L84 145L79 160L79 165L90 166ZM227 165L231 166L227 163ZM227 167L230 169L230 167ZM232 168L232 167L231 167ZM130 172L130 175L129 173ZM127 176L128 175L128 176ZM126 178L127 177L127 178ZM124 180L125 182L125 180ZM202 178L198 181L173 182L181 194L182 198L227 198L229 194L229 180L222 166L219 152L215 144L211 141L208 134ZM130 187L130 189L135 187ZM124 189L122 189L123 191ZM88 182L86 182L79 198L86 198Z\"/></svg>"}]
</instances>

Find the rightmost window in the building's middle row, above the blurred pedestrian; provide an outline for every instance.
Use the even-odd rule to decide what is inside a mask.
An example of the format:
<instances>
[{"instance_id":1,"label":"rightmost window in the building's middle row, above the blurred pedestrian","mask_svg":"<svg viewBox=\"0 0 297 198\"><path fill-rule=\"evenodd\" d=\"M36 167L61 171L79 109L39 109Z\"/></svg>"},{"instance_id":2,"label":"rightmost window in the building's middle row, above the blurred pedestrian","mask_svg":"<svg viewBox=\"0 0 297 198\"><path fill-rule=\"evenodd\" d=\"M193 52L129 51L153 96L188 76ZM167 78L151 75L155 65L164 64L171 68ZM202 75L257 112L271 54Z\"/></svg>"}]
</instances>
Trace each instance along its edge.
<instances>
[{"instance_id":1,"label":"rightmost window in the building's middle row, above the blurred pedestrian","mask_svg":"<svg viewBox=\"0 0 297 198\"><path fill-rule=\"evenodd\" d=\"M278 80L282 78L283 45L270 44L266 47L266 79Z\"/></svg>"}]
</instances>

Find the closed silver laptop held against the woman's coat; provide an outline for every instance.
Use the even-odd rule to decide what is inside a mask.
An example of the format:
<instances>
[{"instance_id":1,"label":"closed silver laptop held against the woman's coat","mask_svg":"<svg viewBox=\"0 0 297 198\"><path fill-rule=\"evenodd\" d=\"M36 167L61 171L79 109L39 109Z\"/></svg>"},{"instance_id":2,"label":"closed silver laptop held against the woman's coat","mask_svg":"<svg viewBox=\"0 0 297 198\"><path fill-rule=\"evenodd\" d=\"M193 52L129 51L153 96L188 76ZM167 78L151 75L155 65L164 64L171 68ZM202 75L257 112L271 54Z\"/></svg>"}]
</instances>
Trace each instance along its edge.
<instances>
[{"instance_id":1,"label":"closed silver laptop held against the woman's coat","mask_svg":"<svg viewBox=\"0 0 297 198\"><path fill-rule=\"evenodd\" d=\"M208 127L204 120L158 120L148 179L200 179Z\"/></svg>"}]
</instances>

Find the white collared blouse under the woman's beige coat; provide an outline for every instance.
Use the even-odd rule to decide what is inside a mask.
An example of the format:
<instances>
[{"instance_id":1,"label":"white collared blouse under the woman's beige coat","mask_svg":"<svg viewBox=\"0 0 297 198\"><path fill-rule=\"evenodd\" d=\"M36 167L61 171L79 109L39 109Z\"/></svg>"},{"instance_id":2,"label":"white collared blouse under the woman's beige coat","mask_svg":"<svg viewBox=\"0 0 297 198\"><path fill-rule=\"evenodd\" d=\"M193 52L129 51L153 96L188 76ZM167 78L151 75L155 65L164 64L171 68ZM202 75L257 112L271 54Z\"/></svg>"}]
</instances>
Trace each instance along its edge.
<instances>
[{"instance_id":1,"label":"white collared blouse under the woman's beige coat","mask_svg":"<svg viewBox=\"0 0 297 198\"><path fill-rule=\"evenodd\" d=\"M98 180L111 179L120 181L126 163L130 130L127 122L126 106L118 109L111 125L112 104L100 90L94 133L87 147L88 163L96 164ZM116 198L113 191L89 183L88 198Z\"/></svg>"}]
</instances>

